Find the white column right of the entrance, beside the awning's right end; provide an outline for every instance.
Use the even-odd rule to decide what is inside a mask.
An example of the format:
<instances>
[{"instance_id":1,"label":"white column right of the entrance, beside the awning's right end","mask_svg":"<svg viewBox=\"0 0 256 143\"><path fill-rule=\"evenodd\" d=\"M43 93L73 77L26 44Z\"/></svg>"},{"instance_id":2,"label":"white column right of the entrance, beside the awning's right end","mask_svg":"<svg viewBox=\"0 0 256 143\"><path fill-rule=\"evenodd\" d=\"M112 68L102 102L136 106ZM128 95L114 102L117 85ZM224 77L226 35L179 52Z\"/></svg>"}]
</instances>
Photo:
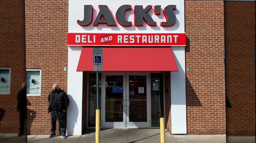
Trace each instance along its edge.
<instances>
[{"instance_id":1,"label":"white column right of the entrance, beside the awning's right end","mask_svg":"<svg viewBox=\"0 0 256 143\"><path fill-rule=\"evenodd\" d=\"M187 134L185 47L172 47L178 71L171 72L172 134Z\"/></svg>"}]
</instances>

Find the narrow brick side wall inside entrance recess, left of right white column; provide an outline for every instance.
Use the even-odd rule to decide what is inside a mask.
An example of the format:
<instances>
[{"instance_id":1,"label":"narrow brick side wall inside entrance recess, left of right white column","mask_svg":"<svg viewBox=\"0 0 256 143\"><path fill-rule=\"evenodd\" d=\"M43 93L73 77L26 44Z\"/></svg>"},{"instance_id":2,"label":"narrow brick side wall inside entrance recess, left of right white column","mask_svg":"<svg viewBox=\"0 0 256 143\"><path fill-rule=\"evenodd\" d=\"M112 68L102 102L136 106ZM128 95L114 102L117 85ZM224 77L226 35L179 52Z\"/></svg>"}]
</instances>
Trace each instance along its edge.
<instances>
[{"instance_id":1,"label":"narrow brick side wall inside entrance recess, left of right white column","mask_svg":"<svg viewBox=\"0 0 256 143\"><path fill-rule=\"evenodd\" d=\"M168 92L165 92L165 125L166 129L171 133L172 126L171 126L171 73L165 72L164 73L164 90L168 89Z\"/></svg>"}]
</instances>

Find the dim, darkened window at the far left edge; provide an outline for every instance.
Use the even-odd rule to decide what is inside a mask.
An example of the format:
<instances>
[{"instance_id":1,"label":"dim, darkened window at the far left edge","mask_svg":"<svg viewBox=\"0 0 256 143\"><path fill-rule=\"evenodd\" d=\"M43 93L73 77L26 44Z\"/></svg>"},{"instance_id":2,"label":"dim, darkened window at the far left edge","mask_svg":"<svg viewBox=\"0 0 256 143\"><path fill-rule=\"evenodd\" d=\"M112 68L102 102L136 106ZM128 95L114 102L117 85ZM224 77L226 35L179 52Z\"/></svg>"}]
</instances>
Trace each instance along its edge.
<instances>
[{"instance_id":1,"label":"dim, darkened window at the far left edge","mask_svg":"<svg viewBox=\"0 0 256 143\"><path fill-rule=\"evenodd\" d=\"M0 94L10 94L11 68L0 68Z\"/></svg>"}]
</instances>

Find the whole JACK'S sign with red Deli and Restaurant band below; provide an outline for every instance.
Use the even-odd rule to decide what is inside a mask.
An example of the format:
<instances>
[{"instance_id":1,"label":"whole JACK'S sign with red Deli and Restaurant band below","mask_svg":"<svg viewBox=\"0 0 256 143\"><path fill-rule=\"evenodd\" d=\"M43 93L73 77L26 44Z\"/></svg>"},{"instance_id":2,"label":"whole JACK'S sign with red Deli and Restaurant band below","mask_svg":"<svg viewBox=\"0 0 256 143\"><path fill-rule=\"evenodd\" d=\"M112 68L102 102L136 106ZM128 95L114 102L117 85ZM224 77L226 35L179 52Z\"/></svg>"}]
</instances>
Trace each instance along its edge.
<instances>
[{"instance_id":1,"label":"whole JACK'S sign with red Deli and Restaurant band below","mask_svg":"<svg viewBox=\"0 0 256 143\"><path fill-rule=\"evenodd\" d=\"M181 1L70 0L67 45L185 46Z\"/></svg>"}]
</instances>

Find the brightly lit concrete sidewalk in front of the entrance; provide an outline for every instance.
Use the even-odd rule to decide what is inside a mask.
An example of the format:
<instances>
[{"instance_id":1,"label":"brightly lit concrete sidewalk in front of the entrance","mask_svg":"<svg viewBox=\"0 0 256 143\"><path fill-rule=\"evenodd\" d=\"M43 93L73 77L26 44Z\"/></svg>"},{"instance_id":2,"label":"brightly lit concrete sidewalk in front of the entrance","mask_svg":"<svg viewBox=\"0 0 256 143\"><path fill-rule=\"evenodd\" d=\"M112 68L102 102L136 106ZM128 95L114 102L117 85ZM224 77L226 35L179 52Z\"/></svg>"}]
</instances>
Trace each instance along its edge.
<instances>
[{"instance_id":1,"label":"brightly lit concrete sidewalk in front of the entrance","mask_svg":"<svg viewBox=\"0 0 256 143\"><path fill-rule=\"evenodd\" d=\"M56 136L52 139L49 135L28 136L28 142L75 142L75 143L93 143L95 142L95 129L87 129L81 136L72 135L66 139ZM165 132L165 143L226 143L225 135L171 135ZM160 143L160 129L101 129L101 143Z\"/></svg>"}]
</instances>

